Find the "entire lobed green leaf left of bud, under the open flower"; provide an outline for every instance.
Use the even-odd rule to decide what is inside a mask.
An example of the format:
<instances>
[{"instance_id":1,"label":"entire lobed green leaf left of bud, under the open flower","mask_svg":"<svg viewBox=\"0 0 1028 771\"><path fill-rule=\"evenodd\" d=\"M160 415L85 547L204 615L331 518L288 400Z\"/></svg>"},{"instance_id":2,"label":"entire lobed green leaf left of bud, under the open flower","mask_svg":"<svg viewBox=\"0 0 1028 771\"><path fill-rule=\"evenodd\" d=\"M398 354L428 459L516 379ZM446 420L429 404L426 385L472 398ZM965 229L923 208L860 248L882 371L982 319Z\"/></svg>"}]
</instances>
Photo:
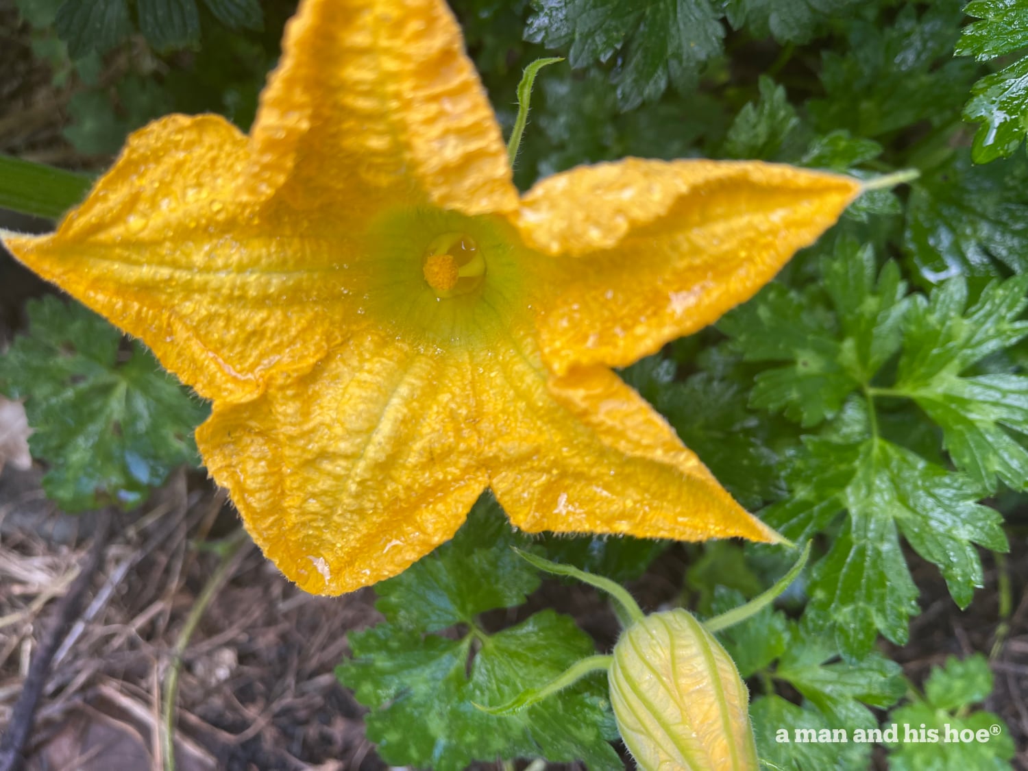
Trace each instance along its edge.
<instances>
[{"instance_id":1,"label":"entire lobed green leaf left of bud, under the open flower","mask_svg":"<svg viewBox=\"0 0 1028 771\"><path fill-rule=\"evenodd\" d=\"M539 577L510 549L515 538L494 504L480 503L450 543L378 585L387 623L350 635L353 658L337 673L371 707L368 737L393 765L460 771L474 760L543 757L622 768L607 743L613 718L601 675L520 712L492 715L546 685L593 644L567 616L547 610L486 633L476 615L524 601ZM460 623L455 634L427 633Z\"/></svg>"}]
</instances>

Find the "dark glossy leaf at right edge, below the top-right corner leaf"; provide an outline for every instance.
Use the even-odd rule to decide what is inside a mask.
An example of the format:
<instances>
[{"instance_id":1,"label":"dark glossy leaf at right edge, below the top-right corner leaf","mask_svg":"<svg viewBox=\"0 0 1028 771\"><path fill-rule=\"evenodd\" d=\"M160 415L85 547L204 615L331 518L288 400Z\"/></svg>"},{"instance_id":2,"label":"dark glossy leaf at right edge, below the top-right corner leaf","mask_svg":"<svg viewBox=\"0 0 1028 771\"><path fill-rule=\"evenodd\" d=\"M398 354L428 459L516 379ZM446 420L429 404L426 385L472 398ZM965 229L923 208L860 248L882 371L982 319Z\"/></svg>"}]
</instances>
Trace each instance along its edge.
<instances>
[{"instance_id":1,"label":"dark glossy leaf at right edge, below the top-right corner leaf","mask_svg":"<svg viewBox=\"0 0 1028 771\"><path fill-rule=\"evenodd\" d=\"M1028 272L1028 158L976 167L954 153L912 185L904 248L932 284L998 276L1000 265Z\"/></svg>"}]
</instances>

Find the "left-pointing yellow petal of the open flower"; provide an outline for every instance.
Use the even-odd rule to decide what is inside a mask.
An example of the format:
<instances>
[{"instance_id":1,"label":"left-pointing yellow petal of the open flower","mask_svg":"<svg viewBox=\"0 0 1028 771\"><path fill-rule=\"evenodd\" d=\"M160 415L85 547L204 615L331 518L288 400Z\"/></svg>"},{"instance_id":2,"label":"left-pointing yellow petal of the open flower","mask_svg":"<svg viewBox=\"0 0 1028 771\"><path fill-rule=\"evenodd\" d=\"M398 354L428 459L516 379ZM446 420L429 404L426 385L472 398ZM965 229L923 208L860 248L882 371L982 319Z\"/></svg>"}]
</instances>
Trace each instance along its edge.
<instances>
[{"instance_id":1,"label":"left-pointing yellow petal of the open flower","mask_svg":"<svg viewBox=\"0 0 1028 771\"><path fill-rule=\"evenodd\" d=\"M345 233L259 219L240 187L248 159L221 117L172 115L130 137L57 232L5 244L201 395L251 398L340 337L361 268L344 264Z\"/></svg>"}]
</instances>

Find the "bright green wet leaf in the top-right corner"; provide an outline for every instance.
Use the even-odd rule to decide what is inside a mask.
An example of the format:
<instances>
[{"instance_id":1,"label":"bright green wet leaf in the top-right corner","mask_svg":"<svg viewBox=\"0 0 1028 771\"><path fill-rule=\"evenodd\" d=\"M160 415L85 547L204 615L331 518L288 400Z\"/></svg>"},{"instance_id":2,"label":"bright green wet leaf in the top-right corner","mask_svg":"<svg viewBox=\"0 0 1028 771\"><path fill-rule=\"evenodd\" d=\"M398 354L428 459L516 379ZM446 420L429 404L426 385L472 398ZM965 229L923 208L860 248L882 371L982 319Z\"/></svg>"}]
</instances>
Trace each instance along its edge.
<instances>
[{"instance_id":1,"label":"bright green wet leaf in the top-right corner","mask_svg":"<svg viewBox=\"0 0 1028 771\"><path fill-rule=\"evenodd\" d=\"M981 19L963 29L956 54L979 62L1015 53L1028 45L1026 0L974 0L964 13ZM971 156L988 163L1011 155L1028 131L1028 59L1021 58L971 87L964 107L967 120L982 123L975 134Z\"/></svg>"}]
</instances>

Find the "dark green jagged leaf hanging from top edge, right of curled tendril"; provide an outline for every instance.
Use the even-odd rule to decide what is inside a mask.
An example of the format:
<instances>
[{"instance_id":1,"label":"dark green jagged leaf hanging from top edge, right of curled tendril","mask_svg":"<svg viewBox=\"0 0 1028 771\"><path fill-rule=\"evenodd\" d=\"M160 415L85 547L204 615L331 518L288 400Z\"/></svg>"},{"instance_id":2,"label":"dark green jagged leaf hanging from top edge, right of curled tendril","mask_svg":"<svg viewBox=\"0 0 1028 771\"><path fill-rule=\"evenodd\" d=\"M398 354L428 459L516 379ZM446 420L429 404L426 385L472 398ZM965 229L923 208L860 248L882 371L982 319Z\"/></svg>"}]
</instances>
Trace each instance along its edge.
<instances>
[{"instance_id":1,"label":"dark green jagged leaf hanging from top edge, right of curled tendril","mask_svg":"<svg viewBox=\"0 0 1028 771\"><path fill-rule=\"evenodd\" d=\"M534 9L525 40L570 46L574 68L621 52L614 77L622 110L656 100L669 81L680 91L692 89L725 34L708 0L539 0Z\"/></svg>"}]
</instances>

